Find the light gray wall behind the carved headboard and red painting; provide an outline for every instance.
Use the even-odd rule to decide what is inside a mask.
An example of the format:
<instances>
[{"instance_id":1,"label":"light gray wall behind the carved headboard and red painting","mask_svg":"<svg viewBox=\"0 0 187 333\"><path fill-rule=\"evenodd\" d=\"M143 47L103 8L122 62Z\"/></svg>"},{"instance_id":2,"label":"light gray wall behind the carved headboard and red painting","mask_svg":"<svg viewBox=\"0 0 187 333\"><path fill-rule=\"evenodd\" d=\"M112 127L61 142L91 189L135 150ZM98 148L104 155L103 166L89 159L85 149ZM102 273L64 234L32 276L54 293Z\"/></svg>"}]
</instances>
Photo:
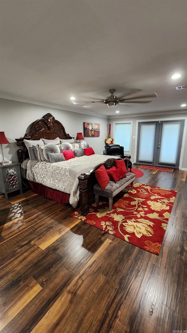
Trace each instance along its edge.
<instances>
[{"instance_id":1,"label":"light gray wall behind the carved headboard and red painting","mask_svg":"<svg viewBox=\"0 0 187 333\"><path fill-rule=\"evenodd\" d=\"M56 120L62 123L66 133L70 136L75 136L75 138L77 132L82 132L84 135L84 122L100 124L100 137L86 138L85 140L96 154L103 152L105 146L104 140L107 137L107 118L0 99L0 132L5 132L6 138L11 143L2 145L6 161L18 161L17 150L19 147L15 139L22 138L25 133L28 133L28 127L47 113L51 113ZM2 161L1 152L0 161Z\"/></svg>"}]
</instances>

